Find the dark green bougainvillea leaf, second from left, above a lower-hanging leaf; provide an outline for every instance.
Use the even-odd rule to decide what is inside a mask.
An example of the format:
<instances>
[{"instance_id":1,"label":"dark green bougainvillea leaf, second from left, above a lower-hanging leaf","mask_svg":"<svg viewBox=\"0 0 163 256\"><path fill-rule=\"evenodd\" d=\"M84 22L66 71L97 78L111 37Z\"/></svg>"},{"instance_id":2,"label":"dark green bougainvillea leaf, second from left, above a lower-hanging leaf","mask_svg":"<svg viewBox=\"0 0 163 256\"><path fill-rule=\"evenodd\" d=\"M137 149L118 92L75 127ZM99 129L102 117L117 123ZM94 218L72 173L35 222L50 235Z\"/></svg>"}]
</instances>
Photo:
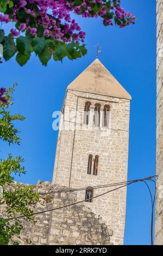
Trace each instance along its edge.
<instances>
[{"instance_id":1,"label":"dark green bougainvillea leaf, second from left, above a lower-hanging leaf","mask_svg":"<svg viewBox=\"0 0 163 256\"><path fill-rule=\"evenodd\" d=\"M20 52L21 54L28 54L30 53L30 51L32 51L32 46L30 44L29 39L26 36L19 36L16 39L16 46L18 52Z\"/></svg>"}]
</instances>

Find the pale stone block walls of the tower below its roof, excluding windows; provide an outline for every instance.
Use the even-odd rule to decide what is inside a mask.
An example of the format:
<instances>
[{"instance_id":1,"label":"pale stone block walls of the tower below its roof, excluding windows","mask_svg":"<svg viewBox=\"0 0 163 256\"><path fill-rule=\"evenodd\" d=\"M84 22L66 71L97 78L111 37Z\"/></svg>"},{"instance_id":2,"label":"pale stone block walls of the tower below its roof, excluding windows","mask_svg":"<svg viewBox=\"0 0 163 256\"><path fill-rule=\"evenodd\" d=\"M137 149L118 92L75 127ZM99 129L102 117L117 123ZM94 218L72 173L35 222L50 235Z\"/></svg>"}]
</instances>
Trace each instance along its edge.
<instances>
[{"instance_id":1,"label":"pale stone block walls of the tower below its roof, excluding windows","mask_svg":"<svg viewBox=\"0 0 163 256\"><path fill-rule=\"evenodd\" d=\"M78 95L78 101L75 94ZM68 90L65 113L67 108L72 112L78 108L78 113L81 113L80 116L82 116L85 102L90 98L92 106L100 103L103 108L106 102L111 106L111 129L108 130L108 135L107 130L103 128L89 130L88 127L85 127L83 130L59 131L53 176L53 182L59 185L73 188L93 187L127 180L130 101L91 93L74 93ZM71 125L73 125L73 117L71 118ZM80 125L80 120L78 123ZM62 125L66 125L66 120ZM87 174L90 154L93 157L99 156L98 175ZM108 188L101 188L94 190L93 194L97 196L106 191ZM78 200L85 199L85 191L78 192L77 198ZM100 215L105 223L114 230L114 240L112 237L111 241L115 245L123 245L126 187L85 204L97 215Z\"/></svg>"}]
</instances>

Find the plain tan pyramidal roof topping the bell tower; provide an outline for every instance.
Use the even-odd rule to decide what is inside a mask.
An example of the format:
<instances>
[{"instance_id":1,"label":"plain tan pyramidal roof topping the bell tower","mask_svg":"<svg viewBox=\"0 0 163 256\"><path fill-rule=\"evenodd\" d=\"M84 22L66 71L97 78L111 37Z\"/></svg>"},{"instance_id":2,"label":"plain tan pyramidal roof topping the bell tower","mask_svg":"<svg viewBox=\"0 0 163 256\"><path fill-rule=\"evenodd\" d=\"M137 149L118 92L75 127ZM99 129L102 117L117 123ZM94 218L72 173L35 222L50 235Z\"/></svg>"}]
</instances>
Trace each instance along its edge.
<instances>
[{"instance_id":1,"label":"plain tan pyramidal roof topping the bell tower","mask_svg":"<svg viewBox=\"0 0 163 256\"><path fill-rule=\"evenodd\" d=\"M129 93L99 59L95 59L67 89L131 100Z\"/></svg>"}]
</instances>

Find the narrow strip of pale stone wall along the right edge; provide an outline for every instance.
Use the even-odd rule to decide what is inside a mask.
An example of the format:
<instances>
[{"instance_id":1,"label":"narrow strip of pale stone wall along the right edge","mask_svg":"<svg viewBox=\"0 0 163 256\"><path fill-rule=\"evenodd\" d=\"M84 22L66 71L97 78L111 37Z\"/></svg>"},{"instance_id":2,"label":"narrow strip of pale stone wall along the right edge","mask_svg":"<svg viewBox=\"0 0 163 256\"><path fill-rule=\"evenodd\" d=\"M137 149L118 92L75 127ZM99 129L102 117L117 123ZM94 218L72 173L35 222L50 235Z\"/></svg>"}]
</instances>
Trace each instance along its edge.
<instances>
[{"instance_id":1,"label":"narrow strip of pale stone wall along the right edge","mask_svg":"<svg viewBox=\"0 0 163 256\"><path fill-rule=\"evenodd\" d=\"M155 245L163 245L163 0L157 0L157 102Z\"/></svg>"}]
</instances>

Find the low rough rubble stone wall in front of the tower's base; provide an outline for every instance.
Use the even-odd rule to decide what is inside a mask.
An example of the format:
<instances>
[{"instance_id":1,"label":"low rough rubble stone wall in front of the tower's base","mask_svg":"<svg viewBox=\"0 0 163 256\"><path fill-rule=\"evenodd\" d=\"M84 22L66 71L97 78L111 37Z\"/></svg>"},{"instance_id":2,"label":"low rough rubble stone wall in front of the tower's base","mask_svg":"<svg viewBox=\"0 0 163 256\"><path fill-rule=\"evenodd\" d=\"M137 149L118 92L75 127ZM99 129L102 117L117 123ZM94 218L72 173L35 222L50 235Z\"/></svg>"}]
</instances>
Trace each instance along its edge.
<instances>
[{"instance_id":1,"label":"low rough rubble stone wall in front of the tower's base","mask_svg":"<svg viewBox=\"0 0 163 256\"><path fill-rule=\"evenodd\" d=\"M22 184L23 186L23 184ZM76 192L51 193L70 190L68 187L39 181L34 186L41 194L43 205L37 204L34 212L59 208L77 202ZM4 208L3 208L4 210ZM2 209L0 208L2 213ZM29 239L35 245L110 245L113 232L84 204L47 211L35 216L36 223L23 221L21 239ZM26 243L19 240L20 244Z\"/></svg>"}]
</instances>

